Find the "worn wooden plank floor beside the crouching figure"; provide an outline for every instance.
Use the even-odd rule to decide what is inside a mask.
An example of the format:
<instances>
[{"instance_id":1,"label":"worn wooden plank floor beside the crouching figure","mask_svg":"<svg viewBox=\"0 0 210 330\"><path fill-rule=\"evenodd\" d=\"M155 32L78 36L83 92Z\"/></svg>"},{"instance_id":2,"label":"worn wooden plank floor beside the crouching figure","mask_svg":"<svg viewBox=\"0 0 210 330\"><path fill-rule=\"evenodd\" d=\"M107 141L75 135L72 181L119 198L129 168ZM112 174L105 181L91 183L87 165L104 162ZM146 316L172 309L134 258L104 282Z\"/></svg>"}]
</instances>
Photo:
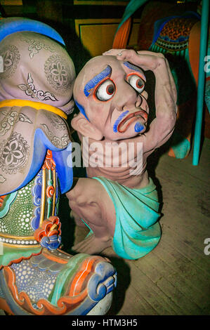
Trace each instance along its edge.
<instances>
[{"instance_id":1,"label":"worn wooden plank floor beside the crouching figure","mask_svg":"<svg viewBox=\"0 0 210 330\"><path fill-rule=\"evenodd\" d=\"M199 166L192 166L192 152L183 160L152 155L151 175L163 200L162 239L139 260L104 251L118 273L108 315L210 315L210 255L204 253L204 239L210 239L209 150L206 139ZM76 239L82 235L77 228Z\"/></svg>"}]
</instances>

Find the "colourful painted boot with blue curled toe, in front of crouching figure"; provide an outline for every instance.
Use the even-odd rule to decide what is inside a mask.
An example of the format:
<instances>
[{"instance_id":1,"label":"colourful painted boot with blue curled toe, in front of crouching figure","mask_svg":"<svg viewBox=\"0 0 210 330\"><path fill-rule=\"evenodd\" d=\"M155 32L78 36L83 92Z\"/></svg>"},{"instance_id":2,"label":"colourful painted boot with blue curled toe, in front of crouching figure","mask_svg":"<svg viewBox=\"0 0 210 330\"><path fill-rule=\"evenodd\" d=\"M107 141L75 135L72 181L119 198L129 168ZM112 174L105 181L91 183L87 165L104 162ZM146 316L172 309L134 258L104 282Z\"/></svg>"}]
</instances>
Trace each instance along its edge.
<instances>
[{"instance_id":1,"label":"colourful painted boot with blue curled toe, in front of crouching figure","mask_svg":"<svg viewBox=\"0 0 210 330\"><path fill-rule=\"evenodd\" d=\"M104 315L112 303L116 272L98 256L44 249L2 268L0 286L0 309L8 314Z\"/></svg>"}]
</instances>

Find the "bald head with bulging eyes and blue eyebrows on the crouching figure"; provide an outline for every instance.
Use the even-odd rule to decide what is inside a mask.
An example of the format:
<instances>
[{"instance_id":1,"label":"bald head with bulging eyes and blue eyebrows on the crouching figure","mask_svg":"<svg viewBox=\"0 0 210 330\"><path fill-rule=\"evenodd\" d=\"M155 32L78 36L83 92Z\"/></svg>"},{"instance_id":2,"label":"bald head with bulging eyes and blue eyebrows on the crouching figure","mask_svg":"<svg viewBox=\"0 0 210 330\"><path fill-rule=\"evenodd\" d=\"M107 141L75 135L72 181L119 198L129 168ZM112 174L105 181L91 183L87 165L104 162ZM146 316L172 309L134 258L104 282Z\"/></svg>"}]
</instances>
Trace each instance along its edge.
<instances>
[{"instance_id":1,"label":"bald head with bulging eyes and blue eyebrows on the crouching figure","mask_svg":"<svg viewBox=\"0 0 210 330\"><path fill-rule=\"evenodd\" d=\"M145 74L114 56L90 60L74 84L74 100L102 136L122 140L143 133L147 124Z\"/></svg>"}]
</instances>

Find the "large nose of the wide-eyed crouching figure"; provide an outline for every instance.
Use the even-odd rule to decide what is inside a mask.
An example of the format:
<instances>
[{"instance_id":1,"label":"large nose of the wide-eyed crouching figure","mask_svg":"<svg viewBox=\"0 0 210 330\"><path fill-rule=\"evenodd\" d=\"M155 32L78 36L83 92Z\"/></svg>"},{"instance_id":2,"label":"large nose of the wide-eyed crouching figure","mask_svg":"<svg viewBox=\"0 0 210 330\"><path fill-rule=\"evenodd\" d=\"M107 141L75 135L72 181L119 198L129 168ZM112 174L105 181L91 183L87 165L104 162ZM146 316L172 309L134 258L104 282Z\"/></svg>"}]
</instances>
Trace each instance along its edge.
<instances>
[{"instance_id":1,"label":"large nose of the wide-eyed crouching figure","mask_svg":"<svg viewBox=\"0 0 210 330\"><path fill-rule=\"evenodd\" d=\"M114 103L114 107L118 111L125 111L126 108L129 110L131 107L136 107L136 104L141 103L141 101L135 89L124 81L117 86Z\"/></svg>"}]
</instances>

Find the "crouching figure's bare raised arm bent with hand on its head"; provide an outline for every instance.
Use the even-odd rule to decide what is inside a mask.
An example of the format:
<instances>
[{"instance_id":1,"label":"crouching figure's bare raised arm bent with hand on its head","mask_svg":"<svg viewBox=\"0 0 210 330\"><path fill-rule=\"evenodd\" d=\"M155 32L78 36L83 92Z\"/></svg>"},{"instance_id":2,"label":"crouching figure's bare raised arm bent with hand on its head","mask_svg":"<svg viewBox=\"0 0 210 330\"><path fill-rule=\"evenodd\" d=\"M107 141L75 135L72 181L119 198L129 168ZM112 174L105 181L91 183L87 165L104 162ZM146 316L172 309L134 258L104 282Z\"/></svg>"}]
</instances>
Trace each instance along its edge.
<instances>
[{"instance_id":1,"label":"crouching figure's bare raised arm bent with hand on its head","mask_svg":"<svg viewBox=\"0 0 210 330\"><path fill-rule=\"evenodd\" d=\"M143 70L151 70L155 74L155 107L156 118L150 124L150 129L141 136L145 151L160 147L170 138L176 123L176 86L173 81L169 63L162 53L150 51L113 49L105 55L116 55L118 60L126 60Z\"/></svg>"}]
</instances>

